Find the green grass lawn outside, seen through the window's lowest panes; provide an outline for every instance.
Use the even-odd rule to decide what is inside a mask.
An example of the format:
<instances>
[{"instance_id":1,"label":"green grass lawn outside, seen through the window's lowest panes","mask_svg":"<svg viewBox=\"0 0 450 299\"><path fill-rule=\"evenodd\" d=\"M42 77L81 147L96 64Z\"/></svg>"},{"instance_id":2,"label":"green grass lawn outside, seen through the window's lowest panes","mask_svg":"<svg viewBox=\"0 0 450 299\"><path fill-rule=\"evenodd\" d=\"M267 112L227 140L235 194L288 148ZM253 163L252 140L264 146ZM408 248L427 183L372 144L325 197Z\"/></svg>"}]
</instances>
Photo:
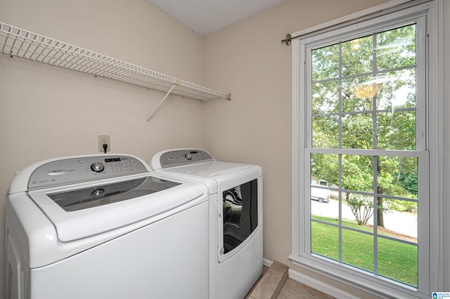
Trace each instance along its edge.
<instances>
[{"instance_id":1,"label":"green grass lawn outside, seen through the window's lowest panes","mask_svg":"<svg viewBox=\"0 0 450 299\"><path fill-rule=\"evenodd\" d=\"M314 216L314 219L338 224L335 218ZM345 227L371 232L370 227L356 221L342 220ZM311 221L311 251L339 261L339 229L332 225ZM378 269L376 273L404 284L418 286L417 246L378 237ZM373 263L373 236L342 227L342 263L375 272Z\"/></svg>"}]
</instances>

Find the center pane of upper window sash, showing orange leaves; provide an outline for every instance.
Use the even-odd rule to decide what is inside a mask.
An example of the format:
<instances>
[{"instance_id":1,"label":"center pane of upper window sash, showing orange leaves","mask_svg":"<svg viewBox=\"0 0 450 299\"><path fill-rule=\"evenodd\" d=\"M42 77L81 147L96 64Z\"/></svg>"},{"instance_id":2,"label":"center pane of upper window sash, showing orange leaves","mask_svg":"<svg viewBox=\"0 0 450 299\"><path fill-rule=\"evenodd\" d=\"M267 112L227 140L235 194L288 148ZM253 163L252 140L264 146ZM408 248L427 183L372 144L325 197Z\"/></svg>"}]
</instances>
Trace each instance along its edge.
<instances>
[{"instance_id":1,"label":"center pane of upper window sash, showing orange leaves","mask_svg":"<svg viewBox=\"0 0 450 299\"><path fill-rule=\"evenodd\" d=\"M374 95L375 89L371 77L342 80L342 112L372 110Z\"/></svg>"}]
</instances>

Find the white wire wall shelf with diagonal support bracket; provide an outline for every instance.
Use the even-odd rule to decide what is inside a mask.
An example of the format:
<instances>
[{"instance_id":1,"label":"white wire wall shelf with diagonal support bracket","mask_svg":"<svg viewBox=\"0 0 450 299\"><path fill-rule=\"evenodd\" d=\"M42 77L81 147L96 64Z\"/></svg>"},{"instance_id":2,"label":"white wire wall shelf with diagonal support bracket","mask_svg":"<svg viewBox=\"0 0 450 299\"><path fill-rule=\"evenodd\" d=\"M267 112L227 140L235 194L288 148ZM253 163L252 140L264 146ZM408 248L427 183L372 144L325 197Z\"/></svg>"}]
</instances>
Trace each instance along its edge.
<instances>
[{"instance_id":1,"label":"white wire wall shelf with diagonal support bracket","mask_svg":"<svg viewBox=\"0 0 450 299\"><path fill-rule=\"evenodd\" d=\"M72 69L166 93L147 121L153 117L153 114L169 94L195 100L217 98L231 100L230 93L214 91L189 81L73 46L64 41L51 39L4 22L0 22L0 50L1 53L11 55L11 57L34 60L47 65Z\"/></svg>"}]
</instances>

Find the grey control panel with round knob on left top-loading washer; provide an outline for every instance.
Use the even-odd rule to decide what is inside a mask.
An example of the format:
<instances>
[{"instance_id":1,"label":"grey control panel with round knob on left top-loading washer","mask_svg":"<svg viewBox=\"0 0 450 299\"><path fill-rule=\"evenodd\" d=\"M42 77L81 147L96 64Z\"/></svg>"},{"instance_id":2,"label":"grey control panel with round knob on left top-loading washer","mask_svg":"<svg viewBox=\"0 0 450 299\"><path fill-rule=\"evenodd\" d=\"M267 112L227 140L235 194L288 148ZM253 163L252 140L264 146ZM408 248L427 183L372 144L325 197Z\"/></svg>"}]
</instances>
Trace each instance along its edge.
<instances>
[{"instance_id":1,"label":"grey control panel with round knob on left top-loading washer","mask_svg":"<svg viewBox=\"0 0 450 299\"><path fill-rule=\"evenodd\" d=\"M37 167L28 180L28 190L148 173L148 171L141 160L124 155L60 159Z\"/></svg>"}]
</instances>

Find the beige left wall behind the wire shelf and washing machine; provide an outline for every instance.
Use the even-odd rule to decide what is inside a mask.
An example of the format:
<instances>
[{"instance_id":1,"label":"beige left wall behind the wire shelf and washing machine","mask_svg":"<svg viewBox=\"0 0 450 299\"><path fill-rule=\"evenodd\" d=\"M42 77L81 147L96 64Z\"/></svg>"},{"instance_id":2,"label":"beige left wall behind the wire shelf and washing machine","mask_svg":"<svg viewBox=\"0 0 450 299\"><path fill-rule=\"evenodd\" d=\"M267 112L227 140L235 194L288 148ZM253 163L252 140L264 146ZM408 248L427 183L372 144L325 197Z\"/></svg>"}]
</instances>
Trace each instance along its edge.
<instances>
[{"instance_id":1,"label":"beige left wall behind the wire shelf and washing machine","mask_svg":"<svg viewBox=\"0 0 450 299\"><path fill-rule=\"evenodd\" d=\"M0 21L203 84L203 39L145 0L0 0ZM203 103L0 54L0 298L4 194L15 171L41 159L113 152L148 161L172 147L203 147Z\"/></svg>"}]
</instances>

